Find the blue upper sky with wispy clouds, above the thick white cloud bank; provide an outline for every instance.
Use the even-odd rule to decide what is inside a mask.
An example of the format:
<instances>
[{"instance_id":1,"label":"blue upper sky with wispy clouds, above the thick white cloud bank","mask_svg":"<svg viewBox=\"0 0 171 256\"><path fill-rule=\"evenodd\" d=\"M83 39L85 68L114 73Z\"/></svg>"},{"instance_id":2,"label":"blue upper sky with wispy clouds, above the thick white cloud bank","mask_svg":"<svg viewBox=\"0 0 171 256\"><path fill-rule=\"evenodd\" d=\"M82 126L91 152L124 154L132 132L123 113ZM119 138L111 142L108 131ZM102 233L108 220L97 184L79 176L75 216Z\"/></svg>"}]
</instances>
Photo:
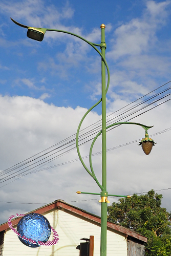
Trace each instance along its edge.
<instances>
[{"instance_id":1,"label":"blue upper sky with wispy clouds, above the thick white cloud bank","mask_svg":"<svg viewBox=\"0 0 171 256\"><path fill-rule=\"evenodd\" d=\"M169 1L108 1L105 5L102 1L2 1L2 95L30 96L57 106L89 108L93 96L100 91L100 57L90 46L55 32L47 32L42 42L33 41L26 37L27 29L13 24L10 16L29 26L78 32L97 43L104 23L110 88L120 95L120 88L124 90L126 80L131 80L135 84L127 96L134 100L144 95L147 87L157 88L169 78L169 8ZM136 86L142 90L136 92Z\"/></svg>"}]
</instances>

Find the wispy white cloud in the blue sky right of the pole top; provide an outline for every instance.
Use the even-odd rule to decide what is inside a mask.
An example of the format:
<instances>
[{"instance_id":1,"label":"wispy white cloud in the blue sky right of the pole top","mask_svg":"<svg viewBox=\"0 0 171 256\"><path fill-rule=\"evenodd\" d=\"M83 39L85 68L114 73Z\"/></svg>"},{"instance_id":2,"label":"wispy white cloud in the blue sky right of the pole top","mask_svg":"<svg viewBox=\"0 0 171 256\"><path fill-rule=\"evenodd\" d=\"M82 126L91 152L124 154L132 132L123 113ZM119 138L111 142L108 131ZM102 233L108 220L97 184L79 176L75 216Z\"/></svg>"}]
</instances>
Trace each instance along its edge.
<instances>
[{"instance_id":1,"label":"wispy white cloud in the blue sky right of the pole top","mask_svg":"<svg viewBox=\"0 0 171 256\"><path fill-rule=\"evenodd\" d=\"M116 99L135 100L170 80L170 42L157 37L166 25L170 3L146 1L141 16L122 22L115 30L112 50L106 52L114 70L108 94L110 109L115 109Z\"/></svg>"}]
</instances>

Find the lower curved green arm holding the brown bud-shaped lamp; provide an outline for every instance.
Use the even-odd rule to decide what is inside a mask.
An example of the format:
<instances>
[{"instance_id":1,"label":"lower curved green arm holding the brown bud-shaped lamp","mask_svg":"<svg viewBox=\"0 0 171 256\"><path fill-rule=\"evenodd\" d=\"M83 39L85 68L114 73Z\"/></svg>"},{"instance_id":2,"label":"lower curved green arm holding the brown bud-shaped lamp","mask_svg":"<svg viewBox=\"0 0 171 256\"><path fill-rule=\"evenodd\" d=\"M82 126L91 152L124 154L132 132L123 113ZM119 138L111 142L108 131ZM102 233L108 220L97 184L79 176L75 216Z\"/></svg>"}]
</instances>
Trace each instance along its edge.
<instances>
[{"instance_id":1,"label":"lower curved green arm holding the brown bud-shaped lamp","mask_svg":"<svg viewBox=\"0 0 171 256\"><path fill-rule=\"evenodd\" d=\"M144 125L144 124L141 124L141 123L135 123L135 122L117 122L117 123L113 123L113 124L110 124L108 126L106 126L106 129L112 127L112 126L115 126L115 125L120 125L120 124L135 124L135 125L140 125L145 131L147 131L149 128L152 128L153 126L147 126L147 125ZM96 141L96 139L101 135L102 131L100 131L96 137L94 138L92 144L91 144L91 147L90 147L90 154L89 154L89 162L90 162L90 168L91 168L91 171L92 171L92 174L94 175L94 179L97 183L97 185L101 188L101 190L103 189L103 187L100 185L99 181L97 180L96 176L95 176L95 173L94 173L94 170L93 170L93 165L92 165L92 150L93 150L93 146L94 146L94 143Z\"/></svg>"}]
</instances>

